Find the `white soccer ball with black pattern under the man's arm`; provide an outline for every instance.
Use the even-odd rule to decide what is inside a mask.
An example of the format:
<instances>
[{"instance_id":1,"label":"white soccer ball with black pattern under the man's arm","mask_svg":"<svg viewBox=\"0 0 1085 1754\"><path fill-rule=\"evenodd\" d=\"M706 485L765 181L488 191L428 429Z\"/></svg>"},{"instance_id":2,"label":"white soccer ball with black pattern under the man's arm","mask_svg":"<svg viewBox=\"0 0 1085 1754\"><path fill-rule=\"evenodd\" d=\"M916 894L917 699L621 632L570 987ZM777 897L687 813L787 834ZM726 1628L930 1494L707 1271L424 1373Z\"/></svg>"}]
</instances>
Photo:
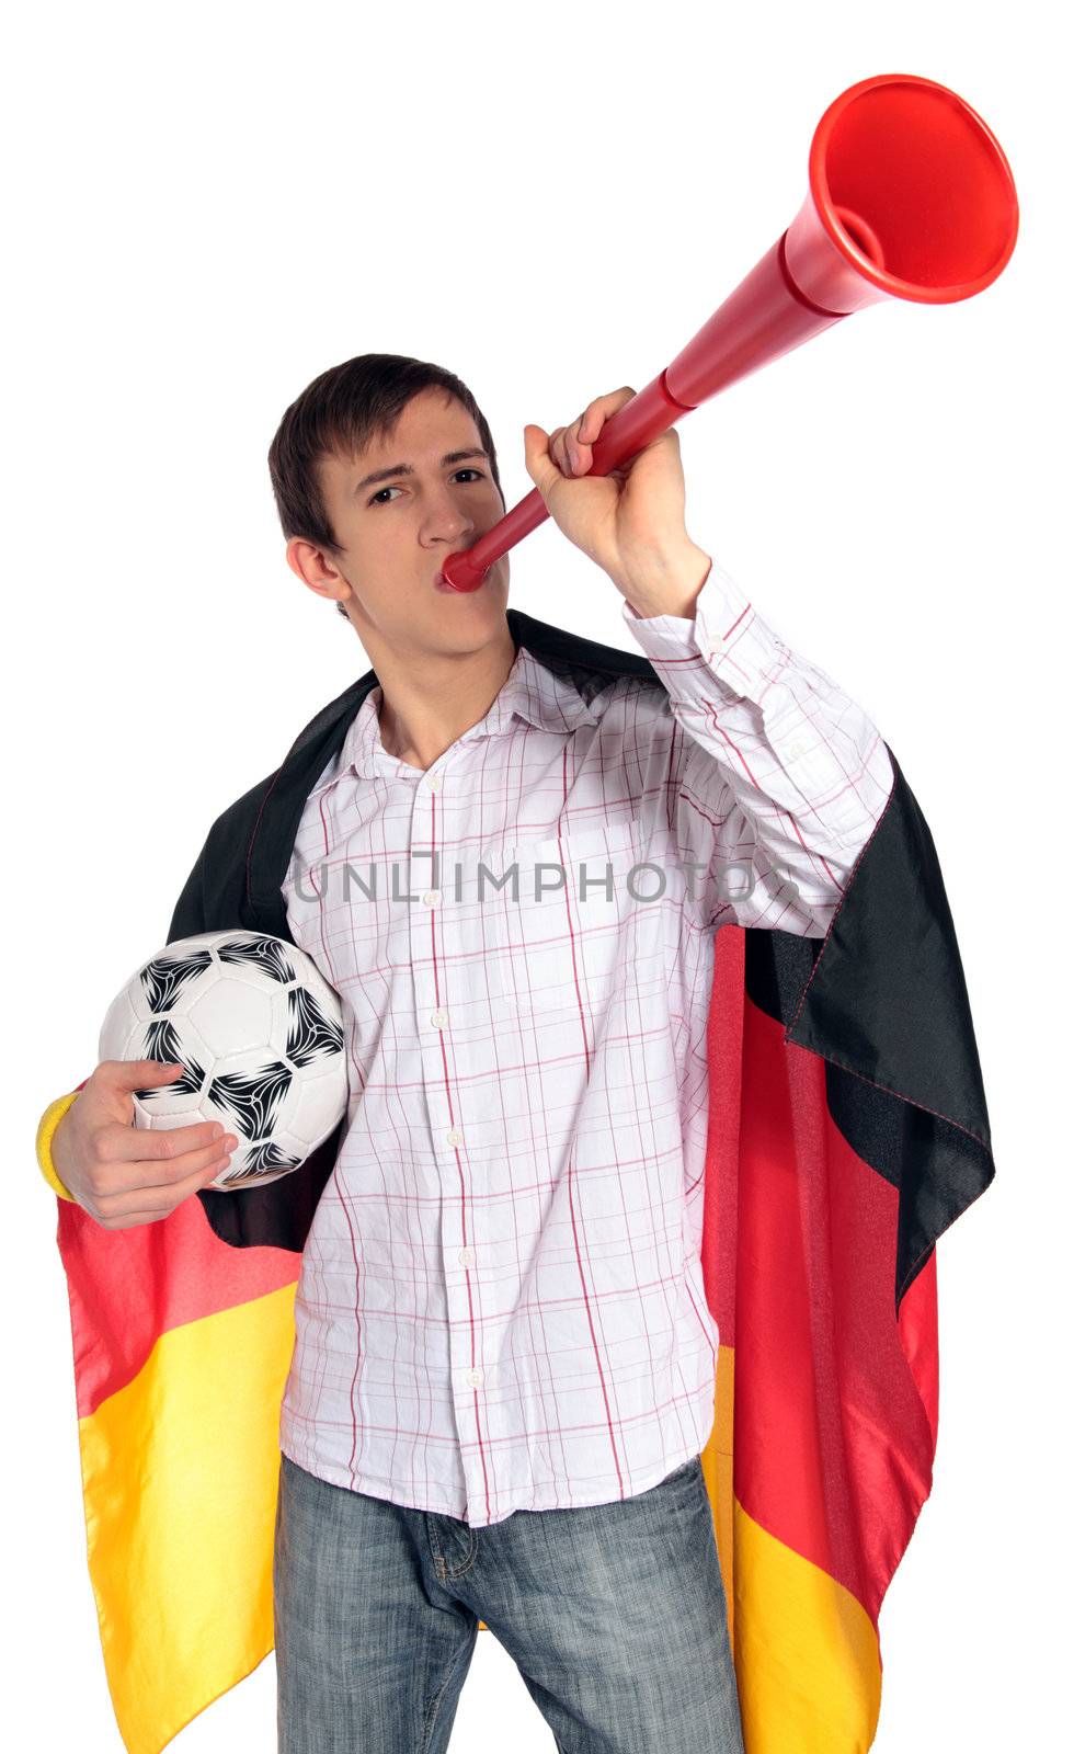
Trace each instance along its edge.
<instances>
[{"instance_id":1,"label":"white soccer ball with black pattern under the man's arm","mask_svg":"<svg viewBox=\"0 0 1085 1754\"><path fill-rule=\"evenodd\" d=\"M135 1124L221 1121L237 1135L207 1187L289 1175L347 1109L338 995L305 951L261 931L177 938L135 970L105 1014L98 1059L168 1059L172 1084L133 1093Z\"/></svg>"}]
</instances>

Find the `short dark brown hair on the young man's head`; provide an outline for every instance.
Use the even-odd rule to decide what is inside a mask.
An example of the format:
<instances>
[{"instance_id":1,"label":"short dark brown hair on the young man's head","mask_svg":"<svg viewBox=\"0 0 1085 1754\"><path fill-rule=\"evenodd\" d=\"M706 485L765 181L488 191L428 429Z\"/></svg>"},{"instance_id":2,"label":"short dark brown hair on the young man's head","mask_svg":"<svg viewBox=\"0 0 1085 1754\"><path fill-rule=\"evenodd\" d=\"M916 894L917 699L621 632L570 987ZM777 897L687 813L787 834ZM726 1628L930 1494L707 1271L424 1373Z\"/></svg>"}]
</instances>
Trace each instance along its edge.
<instances>
[{"instance_id":1,"label":"short dark brown hair on the young man's head","mask_svg":"<svg viewBox=\"0 0 1085 1754\"><path fill-rule=\"evenodd\" d=\"M316 463L324 456L356 456L372 438L387 438L400 414L421 389L443 389L463 403L479 428L501 505L494 440L472 391L440 365L401 353L359 353L314 377L279 421L268 451L272 491L282 535L301 537L342 554L324 509ZM340 616L347 610L335 605Z\"/></svg>"}]
</instances>

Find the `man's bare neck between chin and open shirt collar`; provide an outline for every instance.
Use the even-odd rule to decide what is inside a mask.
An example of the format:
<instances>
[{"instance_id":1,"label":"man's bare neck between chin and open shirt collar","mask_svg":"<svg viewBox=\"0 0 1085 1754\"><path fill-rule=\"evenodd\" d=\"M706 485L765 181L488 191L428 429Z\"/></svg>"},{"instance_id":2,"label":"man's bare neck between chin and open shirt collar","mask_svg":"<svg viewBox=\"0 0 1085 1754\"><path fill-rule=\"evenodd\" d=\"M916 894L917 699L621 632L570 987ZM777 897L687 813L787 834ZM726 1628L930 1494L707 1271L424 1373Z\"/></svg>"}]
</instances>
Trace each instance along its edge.
<instances>
[{"instance_id":1,"label":"man's bare neck between chin and open shirt collar","mask_svg":"<svg viewBox=\"0 0 1085 1754\"><path fill-rule=\"evenodd\" d=\"M508 624L477 652L403 656L370 651L380 682L380 742L391 756L431 766L457 737L486 717L515 660Z\"/></svg>"}]
</instances>

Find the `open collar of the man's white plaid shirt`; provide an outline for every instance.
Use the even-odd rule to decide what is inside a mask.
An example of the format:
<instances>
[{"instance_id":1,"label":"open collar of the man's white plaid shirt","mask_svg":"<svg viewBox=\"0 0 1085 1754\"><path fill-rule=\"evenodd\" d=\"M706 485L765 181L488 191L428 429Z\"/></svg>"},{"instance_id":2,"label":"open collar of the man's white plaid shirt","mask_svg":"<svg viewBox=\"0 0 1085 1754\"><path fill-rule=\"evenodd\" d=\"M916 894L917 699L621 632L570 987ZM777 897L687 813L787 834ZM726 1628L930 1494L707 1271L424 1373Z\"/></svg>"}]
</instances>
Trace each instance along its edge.
<instances>
[{"instance_id":1,"label":"open collar of the man's white plaid shirt","mask_svg":"<svg viewBox=\"0 0 1085 1754\"><path fill-rule=\"evenodd\" d=\"M377 682L347 730L333 772L316 789L323 791L324 786L333 786L347 774L354 774L358 779L375 779L379 774L387 777L400 765L380 740L377 717L380 698L380 684ZM556 675L526 645L519 645L512 668L489 710L463 733L459 742L501 737L515 730L517 723L533 724L540 731L571 731L578 724L592 724L601 710L603 702L598 695L592 702L585 702L575 682Z\"/></svg>"}]
</instances>

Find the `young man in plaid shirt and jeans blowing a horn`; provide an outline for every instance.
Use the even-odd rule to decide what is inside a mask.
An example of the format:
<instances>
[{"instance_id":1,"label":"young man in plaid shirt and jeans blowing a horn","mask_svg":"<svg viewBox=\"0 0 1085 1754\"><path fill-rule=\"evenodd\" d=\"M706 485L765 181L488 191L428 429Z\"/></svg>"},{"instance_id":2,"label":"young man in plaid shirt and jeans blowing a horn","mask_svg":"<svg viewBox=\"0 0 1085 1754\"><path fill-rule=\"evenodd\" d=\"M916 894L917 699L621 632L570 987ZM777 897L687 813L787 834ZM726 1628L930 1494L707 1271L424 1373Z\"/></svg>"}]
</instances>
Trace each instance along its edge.
<instances>
[{"instance_id":1,"label":"young man in plaid shirt and jeans blowing a horn","mask_svg":"<svg viewBox=\"0 0 1085 1754\"><path fill-rule=\"evenodd\" d=\"M280 1408L282 1754L447 1747L480 1621L564 1749L743 1745L701 1472L713 937L824 937L892 770L687 535L675 431L585 474L631 395L528 426L524 456L652 684L517 644L508 556L443 586L505 510L452 374L349 360L272 444L287 561L379 679L282 886L351 1066ZM152 1075L98 1066L53 1135L110 1230L172 1219L231 1147L135 1131Z\"/></svg>"}]
</instances>

